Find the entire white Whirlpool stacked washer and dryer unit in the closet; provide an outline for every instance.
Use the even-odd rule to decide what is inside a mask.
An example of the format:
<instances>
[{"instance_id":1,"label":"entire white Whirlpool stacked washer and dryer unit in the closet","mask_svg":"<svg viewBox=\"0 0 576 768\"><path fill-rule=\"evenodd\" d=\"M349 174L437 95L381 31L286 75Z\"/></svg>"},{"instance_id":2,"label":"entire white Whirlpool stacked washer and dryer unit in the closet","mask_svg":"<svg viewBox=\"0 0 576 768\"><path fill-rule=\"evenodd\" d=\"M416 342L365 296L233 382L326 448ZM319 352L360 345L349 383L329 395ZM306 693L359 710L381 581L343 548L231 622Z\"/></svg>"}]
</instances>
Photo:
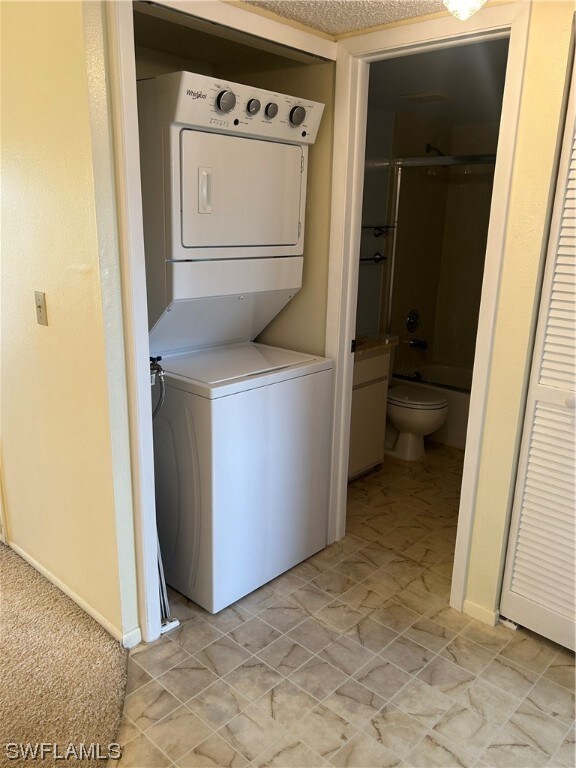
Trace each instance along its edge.
<instances>
[{"instance_id":1,"label":"entire white Whirlpool stacked washer and dryer unit in the closet","mask_svg":"<svg viewBox=\"0 0 576 768\"><path fill-rule=\"evenodd\" d=\"M323 105L177 72L138 111L158 535L215 613L326 545L332 362L253 341L302 285Z\"/></svg>"}]
</instances>

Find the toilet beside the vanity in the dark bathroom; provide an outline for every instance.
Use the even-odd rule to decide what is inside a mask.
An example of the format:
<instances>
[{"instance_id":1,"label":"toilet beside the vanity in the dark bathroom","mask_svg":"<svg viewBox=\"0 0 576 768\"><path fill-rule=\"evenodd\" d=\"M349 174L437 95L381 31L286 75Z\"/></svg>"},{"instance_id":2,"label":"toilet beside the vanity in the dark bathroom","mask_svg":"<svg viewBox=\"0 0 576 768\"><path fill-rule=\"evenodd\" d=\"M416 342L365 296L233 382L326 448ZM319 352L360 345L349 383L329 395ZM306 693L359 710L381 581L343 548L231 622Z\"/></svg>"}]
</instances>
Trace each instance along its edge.
<instances>
[{"instance_id":1,"label":"toilet beside the vanity in the dark bathroom","mask_svg":"<svg viewBox=\"0 0 576 768\"><path fill-rule=\"evenodd\" d=\"M385 452L398 459L417 461L426 453L424 435L446 422L448 401L432 389L400 384L388 390L386 415L389 424Z\"/></svg>"}]
</instances>

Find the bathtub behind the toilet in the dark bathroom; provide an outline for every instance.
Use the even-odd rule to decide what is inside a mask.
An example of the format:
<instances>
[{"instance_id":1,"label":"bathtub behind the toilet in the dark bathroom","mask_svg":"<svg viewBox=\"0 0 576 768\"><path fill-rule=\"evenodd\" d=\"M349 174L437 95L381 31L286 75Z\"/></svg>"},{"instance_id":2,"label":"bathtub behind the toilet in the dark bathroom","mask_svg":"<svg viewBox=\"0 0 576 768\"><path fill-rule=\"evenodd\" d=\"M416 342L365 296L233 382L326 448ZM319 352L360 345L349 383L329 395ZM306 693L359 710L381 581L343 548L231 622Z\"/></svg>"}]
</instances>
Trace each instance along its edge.
<instances>
[{"instance_id":1,"label":"bathtub behind the toilet in the dark bathroom","mask_svg":"<svg viewBox=\"0 0 576 768\"><path fill-rule=\"evenodd\" d=\"M423 365L406 372L394 372L390 386L409 381L422 389L432 389L448 401L448 418L429 438L437 443L464 450L470 410L472 370L449 365Z\"/></svg>"}]
</instances>

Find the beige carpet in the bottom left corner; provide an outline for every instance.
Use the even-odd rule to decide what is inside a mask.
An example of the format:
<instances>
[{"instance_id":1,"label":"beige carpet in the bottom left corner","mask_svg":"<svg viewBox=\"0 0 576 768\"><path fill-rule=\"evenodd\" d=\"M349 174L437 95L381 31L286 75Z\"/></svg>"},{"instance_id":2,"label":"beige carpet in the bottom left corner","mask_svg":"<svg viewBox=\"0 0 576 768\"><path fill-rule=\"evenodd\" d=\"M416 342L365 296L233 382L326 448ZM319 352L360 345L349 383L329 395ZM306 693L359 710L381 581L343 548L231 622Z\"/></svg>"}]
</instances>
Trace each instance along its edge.
<instances>
[{"instance_id":1,"label":"beige carpet in the bottom left corner","mask_svg":"<svg viewBox=\"0 0 576 768\"><path fill-rule=\"evenodd\" d=\"M114 742L127 663L116 640L0 543L0 766L106 766L90 745ZM7 743L73 745L72 759L10 759ZM74 758L80 744L92 757Z\"/></svg>"}]
</instances>

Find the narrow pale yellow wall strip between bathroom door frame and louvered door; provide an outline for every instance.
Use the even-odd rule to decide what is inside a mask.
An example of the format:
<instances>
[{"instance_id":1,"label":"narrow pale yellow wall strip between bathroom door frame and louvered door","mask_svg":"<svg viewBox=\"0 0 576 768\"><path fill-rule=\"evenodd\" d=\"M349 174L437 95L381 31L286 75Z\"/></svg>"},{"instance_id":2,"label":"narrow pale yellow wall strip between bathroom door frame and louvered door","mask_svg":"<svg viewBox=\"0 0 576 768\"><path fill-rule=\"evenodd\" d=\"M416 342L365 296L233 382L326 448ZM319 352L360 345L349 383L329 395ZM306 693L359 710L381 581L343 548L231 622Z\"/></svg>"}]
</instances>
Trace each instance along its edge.
<instances>
[{"instance_id":1,"label":"narrow pale yellow wall strip between bathroom door frame and louvered door","mask_svg":"<svg viewBox=\"0 0 576 768\"><path fill-rule=\"evenodd\" d=\"M499 604L573 17L572 2L532 8L465 602L485 618Z\"/></svg>"}]
</instances>

